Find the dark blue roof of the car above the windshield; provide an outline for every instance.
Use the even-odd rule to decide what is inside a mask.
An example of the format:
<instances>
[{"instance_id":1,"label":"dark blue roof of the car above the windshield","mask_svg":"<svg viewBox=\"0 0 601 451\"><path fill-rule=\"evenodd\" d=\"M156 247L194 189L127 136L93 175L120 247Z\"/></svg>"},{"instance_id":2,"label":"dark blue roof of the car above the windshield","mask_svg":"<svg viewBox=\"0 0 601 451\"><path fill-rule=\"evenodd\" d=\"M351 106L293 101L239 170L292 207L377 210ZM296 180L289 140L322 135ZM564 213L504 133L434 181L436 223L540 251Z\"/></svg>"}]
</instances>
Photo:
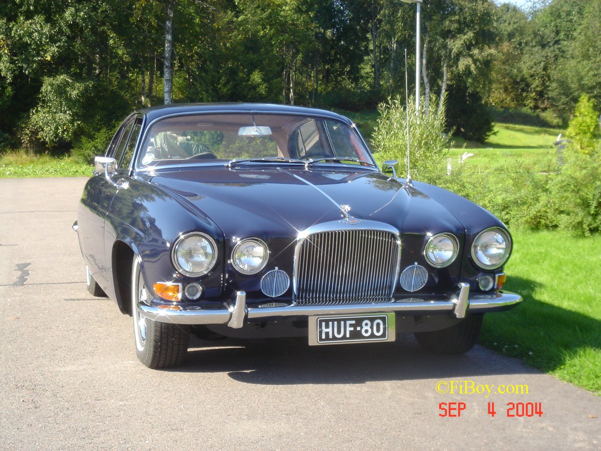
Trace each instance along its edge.
<instances>
[{"instance_id":1,"label":"dark blue roof of the car above the windshield","mask_svg":"<svg viewBox=\"0 0 601 451\"><path fill-rule=\"evenodd\" d=\"M325 109L307 108L304 106L293 105L275 105L271 103L179 103L172 105L151 106L150 108L140 109L137 112L145 114L150 121L163 116L174 114L193 114L193 113L223 113L223 112L248 112L248 113L272 113L272 114L303 114L318 115L332 118L352 124L349 118Z\"/></svg>"}]
</instances>

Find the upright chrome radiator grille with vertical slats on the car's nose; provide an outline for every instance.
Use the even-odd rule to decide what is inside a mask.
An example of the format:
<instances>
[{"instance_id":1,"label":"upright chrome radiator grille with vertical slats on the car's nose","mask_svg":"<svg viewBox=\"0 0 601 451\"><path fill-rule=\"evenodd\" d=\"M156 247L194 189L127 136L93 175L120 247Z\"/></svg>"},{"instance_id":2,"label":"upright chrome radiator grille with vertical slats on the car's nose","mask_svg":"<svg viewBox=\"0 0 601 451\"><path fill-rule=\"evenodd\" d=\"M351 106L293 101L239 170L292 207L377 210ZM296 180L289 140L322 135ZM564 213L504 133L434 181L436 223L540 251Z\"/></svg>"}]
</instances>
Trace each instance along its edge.
<instances>
[{"instance_id":1,"label":"upright chrome radiator grille with vertical slats on the car's nose","mask_svg":"<svg viewBox=\"0 0 601 451\"><path fill-rule=\"evenodd\" d=\"M297 248L294 290L299 305L385 302L392 298L398 236L383 230L308 235Z\"/></svg>"}]
</instances>

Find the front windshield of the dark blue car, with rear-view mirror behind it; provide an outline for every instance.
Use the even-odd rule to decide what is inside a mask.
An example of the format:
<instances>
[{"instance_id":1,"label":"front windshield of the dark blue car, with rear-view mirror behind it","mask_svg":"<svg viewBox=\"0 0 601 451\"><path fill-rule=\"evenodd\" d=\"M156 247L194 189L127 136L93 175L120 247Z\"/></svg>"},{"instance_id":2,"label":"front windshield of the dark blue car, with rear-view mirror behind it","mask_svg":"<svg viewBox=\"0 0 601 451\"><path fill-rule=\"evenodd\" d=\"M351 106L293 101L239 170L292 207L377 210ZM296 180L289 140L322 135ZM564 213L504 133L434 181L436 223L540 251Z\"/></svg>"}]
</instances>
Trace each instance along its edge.
<instances>
[{"instance_id":1,"label":"front windshield of the dark blue car, with rear-view mirror behind it","mask_svg":"<svg viewBox=\"0 0 601 451\"><path fill-rule=\"evenodd\" d=\"M138 167L261 159L370 165L373 161L358 135L336 120L228 113L180 115L156 121L142 144Z\"/></svg>"}]
</instances>

